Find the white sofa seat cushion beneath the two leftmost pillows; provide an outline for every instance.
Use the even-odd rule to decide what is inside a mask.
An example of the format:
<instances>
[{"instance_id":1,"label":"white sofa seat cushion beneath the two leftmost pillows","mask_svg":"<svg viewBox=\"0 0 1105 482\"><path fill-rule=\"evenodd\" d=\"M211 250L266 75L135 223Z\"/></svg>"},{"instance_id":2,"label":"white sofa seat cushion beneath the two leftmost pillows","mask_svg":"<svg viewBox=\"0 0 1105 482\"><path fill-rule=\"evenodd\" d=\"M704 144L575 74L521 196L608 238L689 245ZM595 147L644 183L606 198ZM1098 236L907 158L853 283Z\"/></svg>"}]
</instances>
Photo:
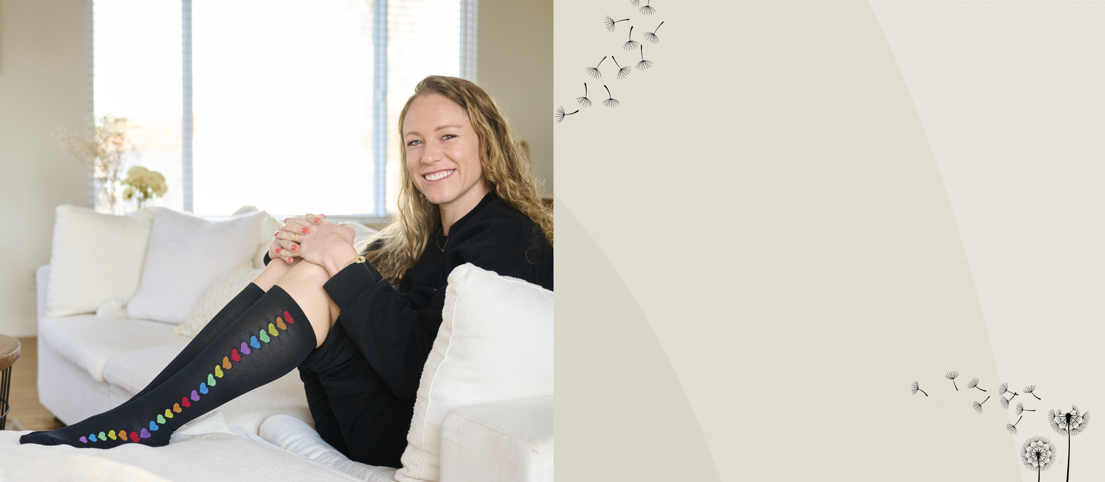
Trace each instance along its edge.
<instances>
[{"instance_id":1,"label":"white sofa seat cushion beneath the two leftmost pillows","mask_svg":"<svg viewBox=\"0 0 1105 482\"><path fill-rule=\"evenodd\" d=\"M62 318L45 317L39 322L39 342L50 345L73 364L88 370L88 376L96 381L105 381L104 368L107 360L115 355L189 340L187 336L172 333L171 325L149 319L76 315Z\"/></svg>"}]
</instances>

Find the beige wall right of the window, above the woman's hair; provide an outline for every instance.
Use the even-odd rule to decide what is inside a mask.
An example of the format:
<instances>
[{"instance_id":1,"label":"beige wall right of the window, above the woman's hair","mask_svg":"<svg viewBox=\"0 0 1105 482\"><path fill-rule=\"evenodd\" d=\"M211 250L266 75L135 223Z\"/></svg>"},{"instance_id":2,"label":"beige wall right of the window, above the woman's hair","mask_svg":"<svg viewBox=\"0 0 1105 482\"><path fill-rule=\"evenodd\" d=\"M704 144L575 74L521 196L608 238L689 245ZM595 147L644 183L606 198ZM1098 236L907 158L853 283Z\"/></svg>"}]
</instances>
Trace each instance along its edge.
<instances>
[{"instance_id":1,"label":"beige wall right of the window, above the woman's hair","mask_svg":"<svg viewBox=\"0 0 1105 482\"><path fill-rule=\"evenodd\" d=\"M552 196L552 2L480 0L476 82L529 144L534 174Z\"/></svg>"}]
</instances>

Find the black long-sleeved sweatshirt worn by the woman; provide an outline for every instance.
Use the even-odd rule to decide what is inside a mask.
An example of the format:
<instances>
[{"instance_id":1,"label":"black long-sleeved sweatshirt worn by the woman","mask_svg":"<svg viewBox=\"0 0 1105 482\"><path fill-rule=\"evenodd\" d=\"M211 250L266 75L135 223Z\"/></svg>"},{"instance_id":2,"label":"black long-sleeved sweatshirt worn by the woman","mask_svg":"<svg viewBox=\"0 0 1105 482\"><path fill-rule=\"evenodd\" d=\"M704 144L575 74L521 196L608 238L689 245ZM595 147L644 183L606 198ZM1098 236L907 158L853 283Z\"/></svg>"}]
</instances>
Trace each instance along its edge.
<instances>
[{"instance_id":1,"label":"black long-sleeved sweatshirt worn by the woman","mask_svg":"<svg viewBox=\"0 0 1105 482\"><path fill-rule=\"evenodd\" d=\"M449 273L464 263L552 290L552 248L545 234L494 193L453 223L448 238L431 237L398 290L367 262L346 266L323 285L341 310L338 322L402 400L414 400L441 326Z\"/></svg>"}]
</instances>

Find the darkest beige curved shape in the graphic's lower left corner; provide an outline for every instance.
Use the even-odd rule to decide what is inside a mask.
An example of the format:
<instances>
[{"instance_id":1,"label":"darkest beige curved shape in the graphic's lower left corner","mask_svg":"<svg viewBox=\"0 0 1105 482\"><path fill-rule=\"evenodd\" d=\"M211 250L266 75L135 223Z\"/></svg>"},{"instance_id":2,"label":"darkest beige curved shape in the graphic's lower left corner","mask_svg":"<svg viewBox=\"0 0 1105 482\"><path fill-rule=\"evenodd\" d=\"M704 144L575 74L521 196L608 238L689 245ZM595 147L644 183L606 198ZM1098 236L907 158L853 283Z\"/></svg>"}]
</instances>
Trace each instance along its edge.
<instances>
[{"instance_id":1,"label":"darkest beige curved shape in the graphic's lower left corner","mask_svg":"<svg viewBox=\"0 0 1105 482\"><path fill-rule=\"evenodd\" d=\"M610 261L559 200L556 229L557 273L579 274L556 291L557 479L718 481L652 326ZM569 409L560 411L562 407ZM599 463L582 473L573 465L581 460Z\"/></svg>"}]
</instances>

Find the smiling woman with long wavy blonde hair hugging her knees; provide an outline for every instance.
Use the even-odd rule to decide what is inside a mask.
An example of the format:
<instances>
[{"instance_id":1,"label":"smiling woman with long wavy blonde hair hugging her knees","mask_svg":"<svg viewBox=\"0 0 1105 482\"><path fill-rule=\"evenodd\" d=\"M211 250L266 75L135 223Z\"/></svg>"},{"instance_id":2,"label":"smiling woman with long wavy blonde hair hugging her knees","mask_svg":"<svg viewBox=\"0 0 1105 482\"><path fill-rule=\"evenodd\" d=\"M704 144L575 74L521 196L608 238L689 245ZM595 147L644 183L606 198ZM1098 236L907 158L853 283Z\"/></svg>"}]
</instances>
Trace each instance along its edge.
<instances>
[{"instance_id":1,"label":"smiling woman with long wavy blonde hair hugging her knees","mask_svg":"<svg viewBox=\"0 0 1105 482\"><path fill-rule=\"evenodd\" d=\"M449 273L471 262L551 290L552 217L494 101L475 84L425 77L399 132L399 212L362 255L348 226L323 214L285 220L266 256L276 262L149 386L20 441L166 444L185 422L298 368L324 440L352 460L400 467Z\"/></svg>"}]
</instances>

